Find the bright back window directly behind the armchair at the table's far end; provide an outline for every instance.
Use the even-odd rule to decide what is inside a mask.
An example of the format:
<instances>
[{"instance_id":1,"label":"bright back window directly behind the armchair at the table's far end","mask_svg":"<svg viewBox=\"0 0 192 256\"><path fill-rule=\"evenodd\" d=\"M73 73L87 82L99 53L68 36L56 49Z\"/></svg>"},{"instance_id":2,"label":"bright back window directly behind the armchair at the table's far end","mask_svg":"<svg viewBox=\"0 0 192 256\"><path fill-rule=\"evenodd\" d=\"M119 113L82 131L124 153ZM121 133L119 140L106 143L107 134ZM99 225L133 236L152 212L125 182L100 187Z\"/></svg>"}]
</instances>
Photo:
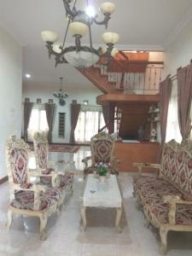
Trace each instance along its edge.
<instances>
[{"instance_id":1,"label":"bright back window directly behind the armchair at the table's far end","mask_svg":"<svg viewBox=\"0 0 192 256\"><path fill-rule=\"evenodd\" d=\"M87 107L87 106L86 106ZM78 123L75 129L75 140L79 143L90 142L90 138L105 126L101 110L82 109L79 113Z\"/></svg>"}]
</instances>

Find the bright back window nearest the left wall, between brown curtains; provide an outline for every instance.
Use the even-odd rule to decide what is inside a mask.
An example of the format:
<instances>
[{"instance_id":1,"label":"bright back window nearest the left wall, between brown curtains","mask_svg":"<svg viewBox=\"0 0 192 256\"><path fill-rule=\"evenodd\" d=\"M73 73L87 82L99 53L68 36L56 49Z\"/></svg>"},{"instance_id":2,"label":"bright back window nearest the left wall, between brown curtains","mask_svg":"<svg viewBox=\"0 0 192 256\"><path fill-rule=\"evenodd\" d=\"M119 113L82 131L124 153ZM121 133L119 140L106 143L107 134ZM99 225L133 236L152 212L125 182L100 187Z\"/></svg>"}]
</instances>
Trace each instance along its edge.
<instances>
[{"instance_id":1,"label":"bright back window nearest the left wall, between brown curtains","mask_svg":"<svg viewBox=\"0 0 192 256\"><path fill-rule=\"evenodd\" d=\"M27 131L28 131L29 142L32 142L34 132L49 131L44 104L34 104L32 108L32 113L29 119L29 126Z\"/></svg>"}]
</instances>

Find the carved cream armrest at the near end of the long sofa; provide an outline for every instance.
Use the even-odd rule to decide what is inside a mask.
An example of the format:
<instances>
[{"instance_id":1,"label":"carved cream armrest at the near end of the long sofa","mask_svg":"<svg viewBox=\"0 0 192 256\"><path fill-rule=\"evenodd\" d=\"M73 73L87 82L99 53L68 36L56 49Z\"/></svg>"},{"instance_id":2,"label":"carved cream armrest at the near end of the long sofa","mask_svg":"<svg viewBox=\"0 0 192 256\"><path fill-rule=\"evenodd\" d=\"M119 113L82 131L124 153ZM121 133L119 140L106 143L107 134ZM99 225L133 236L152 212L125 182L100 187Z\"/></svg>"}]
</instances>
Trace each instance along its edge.
<instances>
[{"instance_id":1,"label":"carved cream armrest at the near end of the long sofa","mask_svg":"<svg viewBox=\"0 0 192 256\"><path fill-rule=\"evenodd\" d=\"M170 205L168 219L170 224L175 224L177 204L192 205L192 201L183 201L178 195L165 195L163 201Z\"/></svg>"}]
</instances>

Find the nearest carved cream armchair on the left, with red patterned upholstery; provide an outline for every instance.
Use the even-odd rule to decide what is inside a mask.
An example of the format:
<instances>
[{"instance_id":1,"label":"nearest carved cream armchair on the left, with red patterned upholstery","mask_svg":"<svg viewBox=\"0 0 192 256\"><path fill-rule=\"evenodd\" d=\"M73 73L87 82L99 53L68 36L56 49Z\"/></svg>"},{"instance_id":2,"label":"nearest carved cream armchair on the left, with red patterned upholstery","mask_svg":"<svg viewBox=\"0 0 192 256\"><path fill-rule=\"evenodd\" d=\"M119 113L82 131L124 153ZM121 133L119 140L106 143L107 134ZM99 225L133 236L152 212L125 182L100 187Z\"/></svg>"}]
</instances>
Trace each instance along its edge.
<instances>
[{"instance_id":1,"label":"nearest carved cream armchair on the left, with red patterned upholstery","mask_svg":"<svg viewBox=\"0 0 192 256\"><path fill-rule=\"evenodd\" d=\"M46 239L45 227L49 215L57 211L61 189L45 189L30 183L28 176L29 146L22 139L9 137L6 145L6 161L9 174L10 204L8 229L12 215L36 216L40 219L40 239Z\"/></svg>"}]
</instances>

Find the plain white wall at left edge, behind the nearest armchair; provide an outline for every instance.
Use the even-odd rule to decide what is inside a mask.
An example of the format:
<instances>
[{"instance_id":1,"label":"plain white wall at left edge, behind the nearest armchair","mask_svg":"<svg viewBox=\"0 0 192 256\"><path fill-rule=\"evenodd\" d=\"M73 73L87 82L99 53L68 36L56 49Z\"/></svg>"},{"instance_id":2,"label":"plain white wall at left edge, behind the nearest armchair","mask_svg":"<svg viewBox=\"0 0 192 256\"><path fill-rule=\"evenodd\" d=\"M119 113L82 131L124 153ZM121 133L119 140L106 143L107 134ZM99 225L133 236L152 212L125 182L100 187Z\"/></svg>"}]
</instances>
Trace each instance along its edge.
<instances>
[{"instance_id":1,"label":"plain white wall at left edge, behind the nearest armchair","mask_svg":"<svg viewBox=\"0 0 192 256\"><path fill-rule=\"evenodd\" d=\"M0 27L0 178L7 176L6 139L21 132L22 49Z\"/></svg>"}]
</instances>

